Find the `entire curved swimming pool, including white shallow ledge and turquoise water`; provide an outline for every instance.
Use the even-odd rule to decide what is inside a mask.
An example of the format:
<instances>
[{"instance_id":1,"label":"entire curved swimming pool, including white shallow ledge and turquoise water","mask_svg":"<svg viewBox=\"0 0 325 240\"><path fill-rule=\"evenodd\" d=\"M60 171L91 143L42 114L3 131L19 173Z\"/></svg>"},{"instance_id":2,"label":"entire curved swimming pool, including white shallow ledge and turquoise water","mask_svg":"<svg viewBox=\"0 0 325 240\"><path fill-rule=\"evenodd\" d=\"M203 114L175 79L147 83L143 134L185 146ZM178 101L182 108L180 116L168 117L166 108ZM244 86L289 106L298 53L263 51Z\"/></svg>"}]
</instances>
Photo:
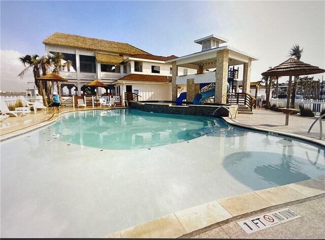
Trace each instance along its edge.
<instances>
[{"instance_id":1,"label":"entire curved swimming pool, including white shallow ledge and turquoise water","mask_svg":"<svg viewBox=\"0 0 325 240\"><path fill-rule=\"evenodd\" d=\"M167 118L179 127L171 130ZM134 127L142 121L159 128L141 126L150 137L136 140ZM95 127L100 122L106 127ZM132 148L112 149L108 135ZM1 143L1 234L101 237L215 199L318 178L324 166L323 148L215 118L134 110L63 114Z\"/></svg>"}]
</instances>

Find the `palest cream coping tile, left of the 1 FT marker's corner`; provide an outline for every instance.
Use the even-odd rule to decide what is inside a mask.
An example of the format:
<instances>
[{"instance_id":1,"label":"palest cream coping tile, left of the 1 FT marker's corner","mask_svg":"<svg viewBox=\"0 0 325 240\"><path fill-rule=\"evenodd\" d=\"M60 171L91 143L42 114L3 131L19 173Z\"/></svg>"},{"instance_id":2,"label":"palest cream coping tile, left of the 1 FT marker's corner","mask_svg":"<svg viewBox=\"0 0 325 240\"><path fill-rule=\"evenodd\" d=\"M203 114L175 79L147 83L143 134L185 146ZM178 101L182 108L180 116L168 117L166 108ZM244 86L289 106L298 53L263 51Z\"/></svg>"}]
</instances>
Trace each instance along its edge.
<instances>
[{"instance_id":1,"label":"palest cream coping tile, left of the 1 FT marker's corner","mask_svg":"<svg viewBox=\"0 0 325 240\"><path fill-rule=\"evenodd\" d=\"M186 233L233 217L217 200L178 211L175 215Z\"/></svg>"}]
</instances>

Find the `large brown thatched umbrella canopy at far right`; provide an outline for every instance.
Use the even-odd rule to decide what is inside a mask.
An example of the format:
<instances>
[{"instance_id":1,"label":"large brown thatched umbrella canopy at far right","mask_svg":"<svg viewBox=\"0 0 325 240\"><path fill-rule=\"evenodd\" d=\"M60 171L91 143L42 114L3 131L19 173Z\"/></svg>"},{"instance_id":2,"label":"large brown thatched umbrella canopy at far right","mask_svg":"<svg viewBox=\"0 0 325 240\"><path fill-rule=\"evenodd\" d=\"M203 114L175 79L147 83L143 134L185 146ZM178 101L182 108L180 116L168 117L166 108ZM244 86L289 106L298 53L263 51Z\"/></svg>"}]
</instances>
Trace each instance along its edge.
<instances>
[{"instance_id":1,"label":"large brown thatched umbrella canopy at far right","mask_svg":"<svg viewBox=\"0 0 325 240\"><path fill-rule=\"evenodd\" d=\"M301 76L310 74L324 73L325 70L318 66L312 66L310 64L299 61L295 58L289 58L285 62L269 69L262 73L262 76L266 77L282 77L282 76Z\"/></svg>"}]
</instances>

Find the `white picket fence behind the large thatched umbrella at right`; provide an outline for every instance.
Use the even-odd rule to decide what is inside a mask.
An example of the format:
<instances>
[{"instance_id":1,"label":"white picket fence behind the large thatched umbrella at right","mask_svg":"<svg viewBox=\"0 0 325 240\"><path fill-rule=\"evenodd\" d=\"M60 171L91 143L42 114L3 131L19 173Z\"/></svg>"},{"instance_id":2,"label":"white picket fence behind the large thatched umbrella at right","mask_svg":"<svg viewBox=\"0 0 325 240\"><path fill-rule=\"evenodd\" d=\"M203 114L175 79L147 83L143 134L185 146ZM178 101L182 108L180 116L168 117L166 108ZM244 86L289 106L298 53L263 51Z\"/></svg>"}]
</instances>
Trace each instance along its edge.
<instances>
[{"instance_id":1,"label":"white picket fence behind the large thatched umbrella at right","mask_svg":"<svg viewBox=\"0 0 325 240\"><path fill-rule=\"evenodd\" d=\"M270 98L270 106L276 105L278 108L286 107L286 98ZM325 99L315 100L315 99L306 99L306 100L295 100L295 108L299 109L299 106L302 105L304 108L310 109L316 116L320 116L320 112L325 109Z\"/></svg>"}]
</instances>

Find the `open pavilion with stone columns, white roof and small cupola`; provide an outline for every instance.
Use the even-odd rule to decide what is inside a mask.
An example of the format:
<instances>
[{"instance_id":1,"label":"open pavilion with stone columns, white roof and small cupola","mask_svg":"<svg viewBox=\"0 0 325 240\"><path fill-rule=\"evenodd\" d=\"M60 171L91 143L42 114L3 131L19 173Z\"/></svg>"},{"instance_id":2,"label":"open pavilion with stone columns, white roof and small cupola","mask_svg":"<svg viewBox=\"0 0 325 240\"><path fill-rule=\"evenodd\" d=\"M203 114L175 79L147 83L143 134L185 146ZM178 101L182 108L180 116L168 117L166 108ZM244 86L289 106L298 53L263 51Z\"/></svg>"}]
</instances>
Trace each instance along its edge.
<instances>
[{"instance_id":1,"label":"open pavilion with stone columns, white roof and small cupola","mask_svg":"<svg viewBox=\"0 0 325 240\"><path fill-rule=\"evenodd\" d=\"M192 101L194 96L200 93L200 84L215 83L215 103L225 104L227 83L234 79L229 71L230 67L243 65L243 88L242 92L249 94L251 62L257 58L243 53L230 46L221 46L227 40L211 35L194 41L202 45L202 51L176 59L166 61L172 63L172 100L177 98L177 85L186 84L187 99ZM186 67L197 70L197 74L178 76L178 67ZM212 70L215 68L215 70Z\"/></svg>"}]
</instances>

